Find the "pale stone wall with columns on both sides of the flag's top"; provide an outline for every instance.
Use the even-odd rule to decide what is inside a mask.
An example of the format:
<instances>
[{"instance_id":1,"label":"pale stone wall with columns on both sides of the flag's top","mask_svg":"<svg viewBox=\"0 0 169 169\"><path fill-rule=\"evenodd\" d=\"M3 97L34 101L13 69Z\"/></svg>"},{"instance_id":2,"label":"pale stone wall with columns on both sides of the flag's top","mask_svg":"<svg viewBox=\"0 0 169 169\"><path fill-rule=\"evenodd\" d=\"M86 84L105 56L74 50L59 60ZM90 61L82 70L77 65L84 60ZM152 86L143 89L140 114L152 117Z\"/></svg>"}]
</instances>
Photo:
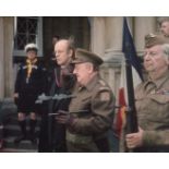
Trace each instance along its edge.
<instances>
[{"instance_id":1,"label":"pale stone wall with columns on both sides of the flag's top","mask_svg":"<svg viewBox=\"0 0 169 169\"><path fill-rule=\"evenodd\" d=\"M92 51L105 60L101 76L108 82L118 100L122 53L123 17L92 17ZM144 37L157 31L157 19L153 16L128 17L128 24L138 56L143 56Z\"/></svg>"}]
</instances>

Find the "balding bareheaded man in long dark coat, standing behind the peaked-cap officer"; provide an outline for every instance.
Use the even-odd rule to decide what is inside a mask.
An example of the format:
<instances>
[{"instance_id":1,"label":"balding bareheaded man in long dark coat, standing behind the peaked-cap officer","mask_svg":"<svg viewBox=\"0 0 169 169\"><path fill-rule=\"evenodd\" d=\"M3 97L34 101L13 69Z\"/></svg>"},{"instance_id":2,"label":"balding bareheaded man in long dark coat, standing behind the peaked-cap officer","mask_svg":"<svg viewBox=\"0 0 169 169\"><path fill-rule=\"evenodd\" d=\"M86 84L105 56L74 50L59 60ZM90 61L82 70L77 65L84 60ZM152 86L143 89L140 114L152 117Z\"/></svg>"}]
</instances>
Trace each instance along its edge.
<instances>
[{"instance_id":1,"label":"balding bareheaded man in long dark coat, standing behind the peaked-cap officer","mask_svg":"<svg viewBox=\"0 0 169 169\"><path fill-rule=\"evenodd\" d=\"M47 96L68 96L68 98L45 101L38 152L67 152L65 125L58 124L55 113L58 110L68 111L72 87L76 81L73 74L74 43L71 39L59 39L55 45L56 67L48 74Z\"/></svg>"}]
</instances>

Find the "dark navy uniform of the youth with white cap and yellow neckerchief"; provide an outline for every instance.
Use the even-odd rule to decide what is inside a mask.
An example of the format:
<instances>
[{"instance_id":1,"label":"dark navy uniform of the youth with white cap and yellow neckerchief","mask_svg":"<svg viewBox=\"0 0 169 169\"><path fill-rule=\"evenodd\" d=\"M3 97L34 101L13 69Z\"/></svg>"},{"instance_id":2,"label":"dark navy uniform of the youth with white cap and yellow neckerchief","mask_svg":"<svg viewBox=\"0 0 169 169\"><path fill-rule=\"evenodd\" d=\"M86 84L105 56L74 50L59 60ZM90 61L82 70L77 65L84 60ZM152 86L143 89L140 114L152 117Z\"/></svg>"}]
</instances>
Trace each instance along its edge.
<instances>
[{"instance_id":1,"label":"dark navy uniform of the youth with white cap and yellow neckerchief","mask_svg":"<svg viewBox=\"0 0 169 169\"><path fill-rule=\"evenodd\" d=\"M35 101L46 90L46 69L37 61L33 65L29 79L27 79L27 65L21 64L15 82L14 92L19 94L15 100L19 112L35 112Z\"/></svg>"}]
</instances>

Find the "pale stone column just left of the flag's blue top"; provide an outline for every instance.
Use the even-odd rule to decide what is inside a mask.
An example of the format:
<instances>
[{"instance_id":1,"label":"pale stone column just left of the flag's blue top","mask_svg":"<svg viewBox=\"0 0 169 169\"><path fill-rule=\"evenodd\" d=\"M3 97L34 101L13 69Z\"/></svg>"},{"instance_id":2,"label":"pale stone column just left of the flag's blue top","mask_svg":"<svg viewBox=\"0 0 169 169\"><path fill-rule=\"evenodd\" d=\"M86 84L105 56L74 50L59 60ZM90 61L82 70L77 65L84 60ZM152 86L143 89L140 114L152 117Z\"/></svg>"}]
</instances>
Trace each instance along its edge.
<instances>
[{"instance_id":1,"label":"pale stone column just left of the flag's blue top","mask_svg":"<svg viewBox=\"0 0 169 169\"><path fill-rule=\"evenodd\" d=\"M106 43L105 43L105 64L102 70L107 72L106 81L109 83L114 95L118 95L118 87L120 84L120 64L123 53L122 48L122 17L113 16L106 17Z\"/></svg>"}]
</instances>

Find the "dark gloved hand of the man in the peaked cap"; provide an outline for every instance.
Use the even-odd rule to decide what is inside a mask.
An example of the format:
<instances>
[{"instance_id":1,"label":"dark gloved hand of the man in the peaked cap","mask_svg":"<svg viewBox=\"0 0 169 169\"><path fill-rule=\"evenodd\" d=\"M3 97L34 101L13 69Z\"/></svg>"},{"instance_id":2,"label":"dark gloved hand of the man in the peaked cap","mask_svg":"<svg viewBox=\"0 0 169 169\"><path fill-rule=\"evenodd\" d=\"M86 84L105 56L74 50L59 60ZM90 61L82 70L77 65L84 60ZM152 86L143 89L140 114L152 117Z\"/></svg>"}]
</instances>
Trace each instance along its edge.
<instances>
[{"instance_id":1,"label":"dark gloved hand of the man in the peaked cap","mask_svg":"<svg viewBox=\"0 0 169 169\"><path fill-rule=\"evenodd\" d=\"M61 124L70 124L73 118L68 111L59 110L58 114L56 116L56 120L58 123Z\"/></svg>"}]
</instances>

